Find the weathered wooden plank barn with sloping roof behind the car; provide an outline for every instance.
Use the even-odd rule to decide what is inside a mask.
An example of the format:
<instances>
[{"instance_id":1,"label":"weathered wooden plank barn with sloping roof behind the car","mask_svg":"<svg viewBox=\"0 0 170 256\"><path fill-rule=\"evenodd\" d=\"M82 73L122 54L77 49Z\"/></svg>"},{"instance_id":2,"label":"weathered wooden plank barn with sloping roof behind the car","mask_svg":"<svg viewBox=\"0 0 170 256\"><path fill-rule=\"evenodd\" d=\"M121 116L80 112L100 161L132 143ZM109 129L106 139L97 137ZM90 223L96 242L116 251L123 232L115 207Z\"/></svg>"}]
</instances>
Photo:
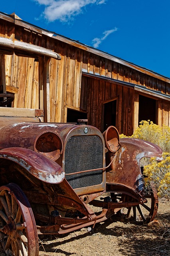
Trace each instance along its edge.
<instances>
[{"instance_id":1,"label":"weathered wooden plank barn with sloping roof behind the car","mask_svg":"<svg viewBox=\"0 0 170 256\"><path fill-rule=\"evenodd\" d=\"M141 120L170 126L170 78L15 14L0 13L0 37L10 39L18 51L0 52L0 90L14 94L13 108L43 109L45 122L88 119L102 132L114 125L126 135ZM35 52L22 56L20 48L28 44L52 50L61 60Z\"/></svg>"}]
</instances>

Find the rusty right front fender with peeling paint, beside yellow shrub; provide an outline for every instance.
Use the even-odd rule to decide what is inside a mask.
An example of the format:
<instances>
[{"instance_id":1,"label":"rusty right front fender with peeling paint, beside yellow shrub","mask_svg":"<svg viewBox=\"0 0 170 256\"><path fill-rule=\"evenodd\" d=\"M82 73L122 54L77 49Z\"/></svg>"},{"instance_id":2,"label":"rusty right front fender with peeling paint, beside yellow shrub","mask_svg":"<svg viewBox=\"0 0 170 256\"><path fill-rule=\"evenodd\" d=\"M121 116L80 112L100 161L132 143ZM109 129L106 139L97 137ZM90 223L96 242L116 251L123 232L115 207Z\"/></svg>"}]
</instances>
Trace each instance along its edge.
<instances>
[{"instance_id":1,"label":"rusty right front fender with peeling paint, beside yellow shrub","mask_svg":"<svg viewBox=\"0 0 170 256\"><path fill-rule=\"evenodd\" d=\"M156 157L162 160L162 149L150 142L140 139L120 139L121 148L116 152L111 170L106 173L107 183L121 184L135 190L141 195L143 191L140 159Z\"/></svg>"}]
</instances>

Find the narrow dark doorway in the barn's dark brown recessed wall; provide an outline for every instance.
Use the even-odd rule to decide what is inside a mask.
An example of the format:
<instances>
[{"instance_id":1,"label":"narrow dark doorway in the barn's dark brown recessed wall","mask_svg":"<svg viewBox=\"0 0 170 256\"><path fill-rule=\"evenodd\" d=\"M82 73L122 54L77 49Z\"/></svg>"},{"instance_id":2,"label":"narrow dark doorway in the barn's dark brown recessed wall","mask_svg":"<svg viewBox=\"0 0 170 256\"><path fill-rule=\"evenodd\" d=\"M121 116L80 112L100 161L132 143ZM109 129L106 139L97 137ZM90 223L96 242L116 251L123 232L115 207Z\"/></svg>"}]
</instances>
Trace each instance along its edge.
<instances>
[{"instance_id":1,"label":"narrow dark doorway in the barn's dark brown recessed wall","mask_svg":"<svg viewBox=\"0 0 170 256\"><path fill-rule=\"evenodd\" d=\"M116 126L117 100L104 104L104 131L111 125Z\"/></svg>"}]
</instances>

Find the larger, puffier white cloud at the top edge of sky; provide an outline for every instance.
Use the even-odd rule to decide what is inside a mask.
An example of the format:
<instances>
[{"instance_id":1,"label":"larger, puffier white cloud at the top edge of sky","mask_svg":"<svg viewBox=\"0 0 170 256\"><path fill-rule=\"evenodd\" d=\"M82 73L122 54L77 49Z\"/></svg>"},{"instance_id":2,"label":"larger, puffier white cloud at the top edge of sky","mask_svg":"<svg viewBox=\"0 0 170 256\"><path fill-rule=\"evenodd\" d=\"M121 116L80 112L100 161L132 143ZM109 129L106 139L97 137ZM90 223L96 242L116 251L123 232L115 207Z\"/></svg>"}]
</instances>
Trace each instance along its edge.
<instances>
[{"instance_id":1,"label":"larger, puffier white cloud at the top edge of sky","mask_svg":"<svg viewBox=\"0 0 170 256\"><path fill-rule=\"evenodd\" d=\"M88 4L105 4L107 0L34 0L45 5L43 16L48 21L68 21L81 13Z\"/></svg>"}]
</instances>

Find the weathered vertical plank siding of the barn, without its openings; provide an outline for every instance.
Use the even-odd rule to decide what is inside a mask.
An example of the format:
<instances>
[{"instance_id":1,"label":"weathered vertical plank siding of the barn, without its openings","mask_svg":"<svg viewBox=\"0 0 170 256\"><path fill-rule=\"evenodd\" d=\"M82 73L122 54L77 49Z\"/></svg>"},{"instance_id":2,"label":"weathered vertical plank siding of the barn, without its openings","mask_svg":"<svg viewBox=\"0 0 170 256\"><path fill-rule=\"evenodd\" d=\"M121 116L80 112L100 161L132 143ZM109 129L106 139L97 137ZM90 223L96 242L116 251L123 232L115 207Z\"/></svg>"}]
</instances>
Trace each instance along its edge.
<instances>
[{"instance_id":1,"label":"weathered vertical plank siding of the barn, without its openings","mask_svg":"<svg viewBox=\"0 0 170 256\"><path fill-rule=\"evenodd\" d=\"M87 112L89 124L103 129L103 104L117 97L117 128L119 132L131 135L138 125L138 94L132 86L102 80L110 78L126 83L142 86L154 92L170 95L170 80L152 74L142 68L134 68L132 64L114 61L107 54L95 50L88 51L78 43L68 43L59 37L49 37L22 21L10 21L0 18L0 36L15 38L30 44L51 49L61 55L61 60L51 59L49 64L49 106L50 122L67 120L65 107ZM67 41L67 42L66 42ZM105 55L105 57L104 57ZM41 68L40 68L41 66ZM2 68L2 57L0 58ZM40 80L38 70L42 63L34 58L18 57L15 54L5 56L6 90L15 94L14 107L40 108ZM82 71L98 79L82 75ZM101 78L101 79L100 79ZM3 85L0 77L0 85ZM147 90L145 96L150 97ZM155 94L156 98L156 94ZM168 100L156 98L158 101L158 124L170 126L170 104Z\"/></svg>"}]
</instances>

